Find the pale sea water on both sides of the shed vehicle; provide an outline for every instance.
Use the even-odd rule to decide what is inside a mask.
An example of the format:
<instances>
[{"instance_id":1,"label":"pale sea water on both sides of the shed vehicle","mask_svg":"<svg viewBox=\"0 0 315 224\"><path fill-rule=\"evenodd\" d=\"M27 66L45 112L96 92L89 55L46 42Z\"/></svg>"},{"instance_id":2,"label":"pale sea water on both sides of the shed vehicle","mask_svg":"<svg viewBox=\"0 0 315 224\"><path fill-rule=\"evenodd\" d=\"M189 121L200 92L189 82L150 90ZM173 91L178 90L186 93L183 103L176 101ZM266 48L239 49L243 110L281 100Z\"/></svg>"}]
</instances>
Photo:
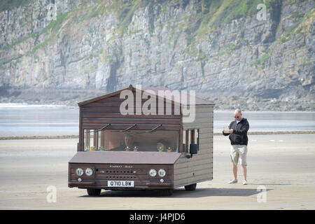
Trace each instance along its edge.
<instances>
[{"instance_id":1,"label":"pale sea water on both sides of the shed vehicle","mask_svg":"<svg viewBox=\"0 0 315 224\"><path fill-rule=\"evenodd\" d=\"M243 111L250 132L314 131L315 112ZM0 137L78 135L78 106L0 104ZM214 112L214 132L234 120L233 111Z\"/></svg>"}]
</instances>

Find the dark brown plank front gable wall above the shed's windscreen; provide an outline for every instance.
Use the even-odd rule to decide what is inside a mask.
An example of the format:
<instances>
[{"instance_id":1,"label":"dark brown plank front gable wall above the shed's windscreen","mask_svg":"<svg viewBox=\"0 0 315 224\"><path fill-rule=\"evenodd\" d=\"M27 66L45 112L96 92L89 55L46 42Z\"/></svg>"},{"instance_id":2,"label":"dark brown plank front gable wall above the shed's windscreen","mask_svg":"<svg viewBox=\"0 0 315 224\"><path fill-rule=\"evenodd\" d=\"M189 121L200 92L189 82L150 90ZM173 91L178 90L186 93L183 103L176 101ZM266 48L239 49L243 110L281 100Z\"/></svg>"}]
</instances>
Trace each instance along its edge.
<instances>
[{"instance_id":1,"label":"dark brown plank front gable wall above the shed's windscreen","mask_svg":"<svg viewBox=\"0 0 315 224\"><path fill-rule=\"evenodd\" d=\"M134 94L134 113L136 112ZM142 103L146 102L147 99L142 99ZM132 130L152 130L157 125L162 124L158 130L172 130L179 131L181 128L181 115L176 115L174 110L175 106L172 104L171 115L122 115L120 113L120 104L125 99L120 99L119 94L106 99L99 99L97 102L90 102L80 106L80 140L83 141L83 130L99 130L106 124L112 124L108 130L124 130L134 124L137 127ZM158 99L156 99L156 105L158 107ZM164 107L166 111L166 102ZM80 144L80 150L83 151L83 144Z\"/></svg>"}]
</instances>

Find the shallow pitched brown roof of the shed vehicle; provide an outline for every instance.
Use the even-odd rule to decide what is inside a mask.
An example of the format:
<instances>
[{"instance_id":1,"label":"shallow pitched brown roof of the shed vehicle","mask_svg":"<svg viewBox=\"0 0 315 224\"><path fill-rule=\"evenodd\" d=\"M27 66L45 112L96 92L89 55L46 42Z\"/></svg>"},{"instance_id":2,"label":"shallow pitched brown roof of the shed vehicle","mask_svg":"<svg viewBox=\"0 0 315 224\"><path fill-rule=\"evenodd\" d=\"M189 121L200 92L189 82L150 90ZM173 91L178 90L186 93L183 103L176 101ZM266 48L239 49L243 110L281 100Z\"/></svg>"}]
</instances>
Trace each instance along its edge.
<instances>
[{"instance_id":1,"label":"shallow pitched brown roof of the shed vehicle","mask_svg":"<svg viewBox=\"0 0 315 224\"><path fill-rule=\"evenodd\" d=\"M133 92L136 92L136 90L140 90L138 89L137 87L133 87L132 85L130 85L129 87L125 88L125 89L122 89L122 90L118 90L118 91L115 91L115 92L110 92L108 94L104 94L100 97L95 97L95 98L92 98L92 99L87 99L83 102L79 102L78 103L78 106L83 106L85 104L90 104L92 102L97 102L98 100L101 100L101 99L106 99L108 97L113 97L115 96L116 94L120 94L120 92L122 92L123 90L131 90ZM171 90L169 89L168 87L141 87L141 91L144 92L146 90L151 90L153 92L155 92L155 95L157 97L162 97L162 98L165 98L165 99L169 99L169 100L172 100L172 102L176 102L176 103L179 103L179 104L183 104L183 105L189 105L190 103L190 94L186 94L186 99L187 99L187 102L188 103L183 103L181 102L180 99L174 99L174 98L169 98L169 97L166 97L164 94L160 94L161 91L159 90L169 90L169 91L174 91L174 90ZM183 92L182 92L183 94ZM205 99L201 99L200 97L195 97L195 105L214 105L214 103L211 103Z\"/></svg>"}]
</instances>

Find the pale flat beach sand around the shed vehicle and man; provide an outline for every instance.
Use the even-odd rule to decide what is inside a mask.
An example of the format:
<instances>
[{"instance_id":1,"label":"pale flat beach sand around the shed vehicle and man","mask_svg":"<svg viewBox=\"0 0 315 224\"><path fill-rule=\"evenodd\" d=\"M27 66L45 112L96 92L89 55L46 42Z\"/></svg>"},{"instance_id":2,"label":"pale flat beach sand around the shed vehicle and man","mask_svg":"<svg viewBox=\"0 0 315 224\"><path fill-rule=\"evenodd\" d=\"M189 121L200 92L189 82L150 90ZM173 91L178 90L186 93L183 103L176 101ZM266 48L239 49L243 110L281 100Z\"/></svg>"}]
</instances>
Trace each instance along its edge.
<instances>
[{"instance_id":1,"label":"pale flat beach sand around the shed vehicle and man","mask_svg":"<svg viewBox=\"0 0 315 224\"><path fill-rule=\"evenodd\" d=\"M248 185L230 185L232 164L227 137L214 136L214 180L197 190L102 191L67 187L67 162L77 139L0 141L0 209L315 209L315 134L248 136ZM239 169L239 180L241 172ZM57 202L48 203L48 186ZM257 190L265 187L265 202Z\"/></svg>"}]
</instances>

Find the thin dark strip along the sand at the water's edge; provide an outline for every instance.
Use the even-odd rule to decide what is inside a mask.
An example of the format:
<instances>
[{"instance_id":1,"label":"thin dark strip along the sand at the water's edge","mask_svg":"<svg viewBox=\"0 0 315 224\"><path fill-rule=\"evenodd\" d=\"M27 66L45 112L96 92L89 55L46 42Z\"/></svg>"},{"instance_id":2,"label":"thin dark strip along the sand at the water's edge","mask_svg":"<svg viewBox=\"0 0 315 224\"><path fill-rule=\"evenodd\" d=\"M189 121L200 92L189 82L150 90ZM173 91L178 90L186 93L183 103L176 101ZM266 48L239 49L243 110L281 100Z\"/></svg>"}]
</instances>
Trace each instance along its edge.
<instances>
[{"instance_id":1,"label":"thin dark strip along the sand at the water's edge","mask_svg":"<svg viewBox=\"0 0 315 224\"><path fill-rule=\"evenodd\" d=\"M315 134L315 131L248 132L248 135L258 135L258 134ZM214 135L222 135L222 133L214 132ZM78 135L0 137L0 141L1 140L20 140L20 139L78 139Z\"/></svg>"}]
</instances>

